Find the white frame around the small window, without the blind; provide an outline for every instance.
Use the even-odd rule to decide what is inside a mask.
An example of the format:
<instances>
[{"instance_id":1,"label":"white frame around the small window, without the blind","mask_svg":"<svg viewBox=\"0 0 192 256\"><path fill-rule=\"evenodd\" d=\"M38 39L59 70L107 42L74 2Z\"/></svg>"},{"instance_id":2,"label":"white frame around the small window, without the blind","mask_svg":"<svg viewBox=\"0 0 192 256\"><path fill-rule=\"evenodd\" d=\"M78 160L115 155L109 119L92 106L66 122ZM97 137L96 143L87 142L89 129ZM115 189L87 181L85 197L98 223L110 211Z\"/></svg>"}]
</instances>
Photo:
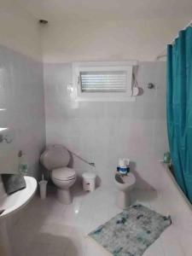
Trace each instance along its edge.
<instances>
[{"instance_id":1,"label":"white frame around the small window, without the blind","mask_svg":"<svg viewBox=\"0 0 192 256\"><path fill-rule=\"evenodd\" d=\"M135 102L132 95L132 68L137 61L92 61L73 63L73 93L78 102ZM127 88L125 92L82 92L79 76L89 71L126 71Z\"/></svg>"}]
</instances>

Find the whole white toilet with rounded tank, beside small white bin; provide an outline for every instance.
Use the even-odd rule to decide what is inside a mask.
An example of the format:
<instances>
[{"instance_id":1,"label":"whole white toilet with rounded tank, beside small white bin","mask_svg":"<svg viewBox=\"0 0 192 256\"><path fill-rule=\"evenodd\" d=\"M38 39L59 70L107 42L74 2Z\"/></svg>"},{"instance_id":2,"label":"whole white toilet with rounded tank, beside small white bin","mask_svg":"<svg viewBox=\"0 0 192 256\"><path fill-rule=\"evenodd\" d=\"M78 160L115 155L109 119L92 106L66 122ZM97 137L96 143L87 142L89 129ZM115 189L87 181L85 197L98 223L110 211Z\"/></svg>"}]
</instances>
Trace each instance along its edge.
<instances>
[{"instance_id":1,"label":"whole white toilet with rounded tank, beside small white bin","mask_svg":"<svg viewBox=\"0 0 192 256\"><path fill-rule=\"evenodd\" d=\"M76 172L67 167L69 160L69 152L61 145L50 146L40 158L42 165L51 171L51 179L57 187L57 198L63 204L72 202L70 188L76 181Z\"/></svg>"}]
</instances>

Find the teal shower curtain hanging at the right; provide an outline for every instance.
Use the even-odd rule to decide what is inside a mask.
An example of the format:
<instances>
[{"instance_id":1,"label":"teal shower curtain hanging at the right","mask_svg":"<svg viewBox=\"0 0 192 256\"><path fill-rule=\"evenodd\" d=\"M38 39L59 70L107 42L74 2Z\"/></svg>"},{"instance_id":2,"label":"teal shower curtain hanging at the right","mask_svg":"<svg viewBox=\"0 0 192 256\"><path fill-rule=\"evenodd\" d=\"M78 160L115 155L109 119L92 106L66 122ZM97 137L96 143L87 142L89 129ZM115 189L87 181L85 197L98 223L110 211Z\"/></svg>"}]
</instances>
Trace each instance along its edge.
<instances>
[{"instance_id":1,"label":"teal shower curtain hanging at the right","mask_svg":"<svg viewBox=\"0 0 192 256\"><path fill-rule=\"evenodd\" d=\"M177 183L192 202L192 27L167 47L166 112Z\"/></svg>"}]
</instances>

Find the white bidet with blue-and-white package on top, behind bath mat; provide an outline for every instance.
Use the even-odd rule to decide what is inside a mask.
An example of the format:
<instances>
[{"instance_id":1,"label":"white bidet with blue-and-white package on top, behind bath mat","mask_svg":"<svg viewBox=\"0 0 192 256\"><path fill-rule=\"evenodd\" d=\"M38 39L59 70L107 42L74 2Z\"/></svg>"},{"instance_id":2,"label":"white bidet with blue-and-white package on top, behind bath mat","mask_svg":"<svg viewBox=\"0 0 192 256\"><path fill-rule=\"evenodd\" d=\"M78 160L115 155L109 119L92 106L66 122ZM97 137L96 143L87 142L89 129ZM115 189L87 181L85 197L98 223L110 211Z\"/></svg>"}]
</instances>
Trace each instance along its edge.
<instances>
[{"instance_id":1,"label":"white bidet with blue-and-white package on top, behind bath mat","mask_svg":"<svg viewBox=\"0 0 192 256\"><path fill-rule=\"evenodd\" d=\"M131 189L134 188L136 177L129 172L127 175L115 174L115 184L118 189L117 206L125 209L131 205Z\"/></svg>"}]
</instances>

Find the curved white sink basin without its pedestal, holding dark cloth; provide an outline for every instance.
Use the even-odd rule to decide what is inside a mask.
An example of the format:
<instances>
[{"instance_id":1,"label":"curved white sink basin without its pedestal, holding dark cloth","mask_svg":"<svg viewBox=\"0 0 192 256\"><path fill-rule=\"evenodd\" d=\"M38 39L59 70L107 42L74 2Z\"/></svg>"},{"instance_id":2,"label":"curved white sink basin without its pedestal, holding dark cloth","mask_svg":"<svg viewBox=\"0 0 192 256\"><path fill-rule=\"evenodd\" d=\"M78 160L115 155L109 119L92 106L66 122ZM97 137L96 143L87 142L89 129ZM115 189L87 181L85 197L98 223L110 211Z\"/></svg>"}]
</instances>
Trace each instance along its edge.
<instances>
[{"instance_id":1,"label":"curved white sink basin without its pedestal, holding dark cloth","mask_svg":"<svg viewBox=\"0 0 192 256\"><path fill-rule=\"evenodd\" d=\"M37 181L34 177L25 176L24 178L26 181L26 189L17 191L12 195L4 194L2 198L0 198L0 210L4 210L0 215L0 219L15 213L32 199L37 189Z\"/></svg>"}]
</instances>

